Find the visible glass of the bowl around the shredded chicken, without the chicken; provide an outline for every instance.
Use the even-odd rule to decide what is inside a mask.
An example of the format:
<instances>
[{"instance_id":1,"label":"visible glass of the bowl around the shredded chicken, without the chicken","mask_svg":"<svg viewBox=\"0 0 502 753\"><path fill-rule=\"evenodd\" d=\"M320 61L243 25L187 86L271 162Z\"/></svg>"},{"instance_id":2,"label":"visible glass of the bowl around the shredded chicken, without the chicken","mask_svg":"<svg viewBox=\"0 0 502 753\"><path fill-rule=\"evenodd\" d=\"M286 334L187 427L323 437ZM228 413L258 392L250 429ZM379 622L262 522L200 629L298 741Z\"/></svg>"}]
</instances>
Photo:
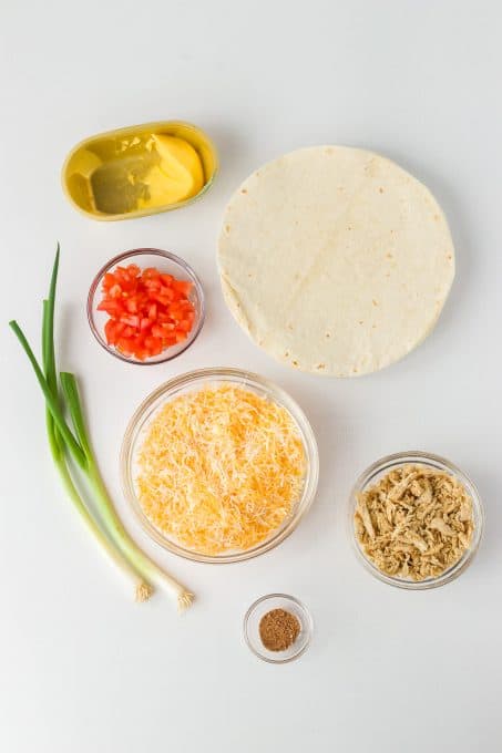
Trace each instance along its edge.
<instances>
[{"instance_id":1,"label":"visible glass of the bowl around the shredded chicken, without the chicken","mask_svg":"<svg viewBox=\"0 0 502 753\"><path fill-rule=\"evenodd\" d=\"M386 573L379 570L379 568L373 565L366 554L363 553L359 541L357 540L355 526L354 526L354 515L357 506L357 496L362 492L366 492L370 486L376 484L382 476L385 476L390 471L409 464L424 465L429 468L436 468L437 471L442 471L451 476L454 476L464 486L472 499L472 515L474 522L474 529L472 533L471 544L468 549L463 553L462 557L454 563L451 567L445 569L440 575L433 578L424 578L423 580L411 580L408 578L402 578L399 576L390 576ZM420 451L409 451L400 452L395 455L388 455L377 461L369 468L367 468L357 479L352 492L350 494L349 501L349 516L348 525L350 532L350 538L354 544L354 548L359 561L366 567L366 569L371 573L376 578L382 580L390 586L397 586L398 588L407 588L410 590L424 590L428 588L437 588L438 586L444 586L445 584L458 578L461 573L463 573L471 564L478 547L481 541L481 537L484 528L484 512L481 502L480 494L469 478L469 476L458 468L453 463L447 461L444 457L438 455L432 455L430 453Z\"/></svg>"}]
</instances>

